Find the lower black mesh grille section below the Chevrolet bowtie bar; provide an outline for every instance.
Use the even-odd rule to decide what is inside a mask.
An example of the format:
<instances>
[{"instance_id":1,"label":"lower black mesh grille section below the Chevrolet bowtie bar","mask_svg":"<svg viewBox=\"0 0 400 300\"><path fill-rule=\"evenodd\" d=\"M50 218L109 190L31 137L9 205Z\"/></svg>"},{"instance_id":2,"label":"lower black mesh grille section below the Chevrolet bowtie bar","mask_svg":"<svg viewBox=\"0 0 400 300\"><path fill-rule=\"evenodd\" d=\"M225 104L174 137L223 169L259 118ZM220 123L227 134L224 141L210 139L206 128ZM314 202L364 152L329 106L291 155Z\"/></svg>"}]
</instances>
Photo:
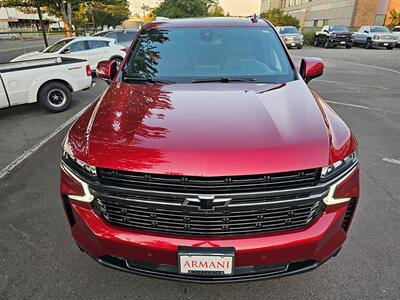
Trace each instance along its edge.
<instances>
[{"instance_id":1,"label":"lower black mesh grille section below the Chevrolet bowtie bar","mask_svg":"<svg viewBox=\"0 0 400 300\"><path fill-rule=\"evenodd\" d=\"M157 232L195 235L250 234L304 227L324 210L321 200L262 207L222 207L199 210L191 207L143 205L130 201L97 198L96 211L117 226Z\"/></svg>"}]
</instances>

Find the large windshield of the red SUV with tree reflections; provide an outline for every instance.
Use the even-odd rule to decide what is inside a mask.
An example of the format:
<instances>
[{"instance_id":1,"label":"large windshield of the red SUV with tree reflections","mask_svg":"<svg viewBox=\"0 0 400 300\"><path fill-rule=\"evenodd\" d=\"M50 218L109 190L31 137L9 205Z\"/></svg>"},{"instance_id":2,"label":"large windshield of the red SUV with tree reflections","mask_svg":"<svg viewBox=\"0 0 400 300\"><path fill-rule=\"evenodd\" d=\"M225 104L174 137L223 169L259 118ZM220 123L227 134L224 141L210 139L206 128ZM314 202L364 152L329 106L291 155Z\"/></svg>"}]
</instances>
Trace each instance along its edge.
<instances>
[{"instance_id":1,"label":"large windshield of the red SUV with tree reflections","mask_svg":"<svg viewBox=\"0 0 400 300\"><path fill-rule=\"evenodd\" d=\"M275 32L259 27L149 29L135 44L123 77L181 83L207 78L279 83L295 79Z\"/></svg>"}]
</instances>

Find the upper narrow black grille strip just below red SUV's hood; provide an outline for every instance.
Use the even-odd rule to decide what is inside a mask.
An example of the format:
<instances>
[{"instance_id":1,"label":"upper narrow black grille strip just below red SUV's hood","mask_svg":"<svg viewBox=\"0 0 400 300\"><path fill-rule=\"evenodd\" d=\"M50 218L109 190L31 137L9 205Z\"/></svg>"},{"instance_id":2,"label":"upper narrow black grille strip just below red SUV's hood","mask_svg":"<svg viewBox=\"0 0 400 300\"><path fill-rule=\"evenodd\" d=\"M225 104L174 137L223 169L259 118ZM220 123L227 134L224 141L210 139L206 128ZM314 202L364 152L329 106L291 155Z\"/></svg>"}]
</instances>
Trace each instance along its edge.
<instances>
[{"instance_id":1,"label":"upper narrow black grille strip just below red SUV's hood","mask_svg":"<svg viewBox=\"0 0 400 300\"><path fill-rule=\"evenodd\" d=\"M178 176L97 169L101 184L142 190L184 193L239 193L311 187L319 169L245 176Z\"/></svg>"}]
</instances>

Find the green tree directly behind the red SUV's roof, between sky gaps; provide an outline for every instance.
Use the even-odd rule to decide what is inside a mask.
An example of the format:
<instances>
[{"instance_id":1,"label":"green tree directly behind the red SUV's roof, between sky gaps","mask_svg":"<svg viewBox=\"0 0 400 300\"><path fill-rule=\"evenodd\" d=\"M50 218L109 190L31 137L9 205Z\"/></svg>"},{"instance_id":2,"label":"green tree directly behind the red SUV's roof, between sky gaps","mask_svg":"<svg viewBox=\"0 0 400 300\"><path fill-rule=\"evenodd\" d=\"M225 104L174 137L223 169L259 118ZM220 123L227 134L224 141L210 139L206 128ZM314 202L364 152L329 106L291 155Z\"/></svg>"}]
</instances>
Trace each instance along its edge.
<instances>
[{"instance_id":1,"label":"green tree directly behind the red SUV's roof, between sky gaps","mask_svg":"<svg viewBox=\"0 0 400 300\"><path fill-rule=\"evenodd\" d=\"M154 13L166 18L190 18L209 16L217 0L164 0Z\"/></svg>"}]
</instances>

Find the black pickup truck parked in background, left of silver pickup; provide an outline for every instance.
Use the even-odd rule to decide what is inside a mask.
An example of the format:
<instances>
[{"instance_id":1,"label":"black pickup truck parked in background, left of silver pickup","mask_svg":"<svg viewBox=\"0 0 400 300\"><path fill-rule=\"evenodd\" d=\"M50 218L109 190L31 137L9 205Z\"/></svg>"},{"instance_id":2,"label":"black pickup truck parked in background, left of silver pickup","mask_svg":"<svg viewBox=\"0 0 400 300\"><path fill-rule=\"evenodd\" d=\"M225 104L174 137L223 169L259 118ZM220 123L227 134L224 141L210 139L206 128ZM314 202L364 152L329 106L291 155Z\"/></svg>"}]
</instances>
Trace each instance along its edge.
<instances>
[{"instance_id":1,"label":"black pickup truck parked in background, left of silver pickup","mask_svg":"<svg viewBox=\"0 0 400 300\"><path fill-rule=\"evenodd\" d=\"M353 46L351 36L352 32L345 25L326 25L315 33L314 46L324 48L345 46L350 49Z\"/></svg>"}]
</instances>

